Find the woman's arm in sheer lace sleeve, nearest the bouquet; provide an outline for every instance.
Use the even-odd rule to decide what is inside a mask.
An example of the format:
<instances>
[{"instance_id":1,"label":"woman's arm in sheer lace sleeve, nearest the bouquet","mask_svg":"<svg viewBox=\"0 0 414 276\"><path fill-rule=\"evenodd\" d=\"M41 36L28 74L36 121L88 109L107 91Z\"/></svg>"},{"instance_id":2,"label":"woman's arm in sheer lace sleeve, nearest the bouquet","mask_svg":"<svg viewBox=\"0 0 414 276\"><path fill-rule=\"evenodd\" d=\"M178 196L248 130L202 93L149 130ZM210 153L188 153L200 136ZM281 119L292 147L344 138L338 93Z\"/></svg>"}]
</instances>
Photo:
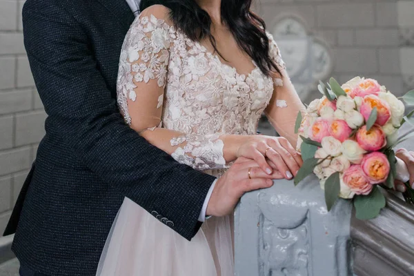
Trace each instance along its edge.
<instances>
[{"instance_id":1,"label":"woman's arm in sheer lace sleeve, nearest the bouquet","mask_svg":"<svg viewBox=\"0 0 414 276\"><path fill-rule=\"evenodd\" d=\"M297 112L304 112L304 105L289 79L288 72L286 72L286 65L275 40L270 34L268 34L268 37L270 42L270 58L278 66L282 75L277 75L273 79L273 95L265 113L270 124L272 124L279 135L288 139L290 144L295 147L297 144L295 121Z\"/></svg>"}]
</instances>

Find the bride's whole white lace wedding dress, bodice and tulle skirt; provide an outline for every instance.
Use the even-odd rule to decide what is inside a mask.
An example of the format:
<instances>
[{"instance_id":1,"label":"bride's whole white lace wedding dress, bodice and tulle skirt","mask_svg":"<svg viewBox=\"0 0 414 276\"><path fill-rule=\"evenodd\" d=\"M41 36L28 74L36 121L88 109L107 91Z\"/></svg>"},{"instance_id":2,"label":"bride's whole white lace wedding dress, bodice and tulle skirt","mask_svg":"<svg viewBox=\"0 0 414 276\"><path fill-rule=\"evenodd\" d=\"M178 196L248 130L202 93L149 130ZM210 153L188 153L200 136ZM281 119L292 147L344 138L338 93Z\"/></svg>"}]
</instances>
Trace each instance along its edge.
<instances>
[{"instance_id":1,"label":"bride's whole white lace wedding dress, bodice and tulle skirt","mask_svg":"<svg viewBox=\"0 0 414 276\"><path fill-rule=\"evenodd\" d=\"M275 41L269 39L270 56L284 68ZM159 135L164 135L163 128L175 130L167 134L172 157L219 177L227 167L220 135L255 135L274 86L282 84L257 66L239 75L172 27L162 9L151 7L135 19L126 36L117 92L131 127ZM231 216L206 220L191 242L168 227L173 221L162 224L159 219L164 218L125 199L97 275L233 275Z\"/></svg>"}]
</instances>

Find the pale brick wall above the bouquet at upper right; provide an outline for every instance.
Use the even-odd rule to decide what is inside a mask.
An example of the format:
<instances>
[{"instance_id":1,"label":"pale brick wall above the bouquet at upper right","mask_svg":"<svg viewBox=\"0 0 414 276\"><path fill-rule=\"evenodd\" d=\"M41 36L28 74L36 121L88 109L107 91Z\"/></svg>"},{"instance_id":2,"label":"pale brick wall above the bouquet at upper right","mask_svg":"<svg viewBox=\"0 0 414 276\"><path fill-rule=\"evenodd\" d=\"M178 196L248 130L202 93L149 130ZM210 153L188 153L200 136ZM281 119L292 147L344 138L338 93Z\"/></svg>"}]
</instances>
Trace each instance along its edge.
<instances>
[{"instance_id":1,"label":"pale brick wall above the bouquet at upper right","mask_svg":"<svg viewBox=\"0 0 414 276\"><path fill-rule=\"evenodd\" d=\"M342 81L355 75L375 77L397 95L406 92L400 63L400 28L402 24L414 28L413 0L260 2L256 10L269 29L277 17L291 14L304 21L311 35L328 43L334 55L333 77ZM404 61L406 70L411 68L414 75L413 64L413 59Z\"/></svg>"}]
</instances>

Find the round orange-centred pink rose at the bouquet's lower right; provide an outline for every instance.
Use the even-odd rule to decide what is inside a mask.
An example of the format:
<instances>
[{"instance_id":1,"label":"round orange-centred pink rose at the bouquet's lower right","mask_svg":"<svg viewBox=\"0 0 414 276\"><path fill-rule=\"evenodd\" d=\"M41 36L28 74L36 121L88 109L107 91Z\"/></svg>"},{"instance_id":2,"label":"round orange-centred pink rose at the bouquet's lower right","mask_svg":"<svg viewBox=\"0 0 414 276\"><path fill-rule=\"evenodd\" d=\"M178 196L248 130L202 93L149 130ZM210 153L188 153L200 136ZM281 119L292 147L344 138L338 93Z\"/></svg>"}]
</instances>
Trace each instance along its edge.
<instances>
[{"instance_id":1,"label":"round orange-centred pink rose at the bouquet's lower right","mask_svg":"<svg viewBox=\"0 0 414 276\"><path fill-rule=\"evenodd\" d=\"M371 152L362 158L361 168L371 184L378 184L386 181L390 172L390 163L384 153Z\"/></svg>"}]
</instances>

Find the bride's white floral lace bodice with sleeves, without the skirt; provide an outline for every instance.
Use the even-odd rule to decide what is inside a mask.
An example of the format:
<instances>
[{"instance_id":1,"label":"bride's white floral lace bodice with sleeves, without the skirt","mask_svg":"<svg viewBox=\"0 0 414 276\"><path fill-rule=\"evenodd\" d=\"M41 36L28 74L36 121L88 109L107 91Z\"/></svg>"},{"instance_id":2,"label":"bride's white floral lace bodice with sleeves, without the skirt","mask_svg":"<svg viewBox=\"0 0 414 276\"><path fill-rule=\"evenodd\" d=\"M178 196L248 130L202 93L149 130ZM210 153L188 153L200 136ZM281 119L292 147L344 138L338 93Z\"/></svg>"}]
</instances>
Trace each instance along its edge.
<instances>
[{"instance_id":1,"label":"bride's white floral lace bodice with sleeves, without the skirt","mask_svg":"<svg viewBox=\"0 0 414 276\"><path fill-rule=\"evenodd\" d=\"M270 55L283 68L269 38ZM226 168L220 135L256 133L274 85L282 80L266 77L256 65L239 75L164 19L141 14L121 50L117 93L127 124L139 131L175 130L172 157L208 170Z\"/></svg>"}]
</instances>

